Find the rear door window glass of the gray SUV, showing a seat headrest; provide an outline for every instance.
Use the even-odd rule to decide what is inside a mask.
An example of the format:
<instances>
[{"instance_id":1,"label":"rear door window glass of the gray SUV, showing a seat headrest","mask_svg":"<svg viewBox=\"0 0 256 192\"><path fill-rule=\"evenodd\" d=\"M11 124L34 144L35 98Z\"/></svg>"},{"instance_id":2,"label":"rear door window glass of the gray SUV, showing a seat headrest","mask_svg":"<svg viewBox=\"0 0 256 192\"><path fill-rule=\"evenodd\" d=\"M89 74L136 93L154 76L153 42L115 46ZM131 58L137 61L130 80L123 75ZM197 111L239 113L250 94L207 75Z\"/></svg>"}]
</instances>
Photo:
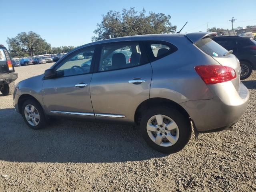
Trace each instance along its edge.
<instances>
[{"instance_id":1,"label":"rear door window glass of the gray SUV, showing a seat headrest","mask_svg":"<svg viewBox=\"0 0 256 192\"><path fill-rule=\"evenodd\" d=\"M102 46L98 70L116 70L138 66L144 63L138 43L113 43Z\"/></svg>"}]
</instances>

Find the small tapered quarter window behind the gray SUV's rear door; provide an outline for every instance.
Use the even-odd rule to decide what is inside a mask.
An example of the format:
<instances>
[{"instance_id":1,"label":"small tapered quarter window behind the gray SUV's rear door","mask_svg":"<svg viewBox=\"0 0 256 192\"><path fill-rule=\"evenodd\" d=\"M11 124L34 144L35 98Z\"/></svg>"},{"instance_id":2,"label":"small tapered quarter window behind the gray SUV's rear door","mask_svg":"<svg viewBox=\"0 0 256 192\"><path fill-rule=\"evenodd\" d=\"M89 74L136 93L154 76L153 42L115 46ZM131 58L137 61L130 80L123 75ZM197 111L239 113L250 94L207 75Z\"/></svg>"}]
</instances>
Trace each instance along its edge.
<instances>
[{"instance_id":1,"label":"small tapered quarter window behind the gray SUV's rear door","mask_svg":"<svg viewBox=\"0 0 256 192\"><path fill-rule=\"evenodd\" d=\"M150 62L163 58L178 50L173 44L162 41L146 41L145 46Z\"/></svg>"}]
</instances>

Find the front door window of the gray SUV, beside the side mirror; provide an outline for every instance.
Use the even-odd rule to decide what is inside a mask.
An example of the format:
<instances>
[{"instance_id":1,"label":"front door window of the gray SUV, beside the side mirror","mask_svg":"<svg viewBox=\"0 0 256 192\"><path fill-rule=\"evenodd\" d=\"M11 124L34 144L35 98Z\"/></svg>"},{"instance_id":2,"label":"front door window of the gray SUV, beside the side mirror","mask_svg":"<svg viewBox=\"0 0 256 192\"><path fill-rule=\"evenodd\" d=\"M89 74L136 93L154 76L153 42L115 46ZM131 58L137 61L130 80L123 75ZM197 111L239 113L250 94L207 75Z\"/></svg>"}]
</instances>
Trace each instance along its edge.
<instances>
[{"instance_id":1,"label":"front door window of the gray SUV, beside the side mirror","mask_svg":"<svg viewBox=\"0 0 256 192\"><path fill-rule=\"evenodd\" d=\"M87 74L90 72L95 47L83 48L70 54L57 67L58 76Z\"/></svg>"}]
</instances>

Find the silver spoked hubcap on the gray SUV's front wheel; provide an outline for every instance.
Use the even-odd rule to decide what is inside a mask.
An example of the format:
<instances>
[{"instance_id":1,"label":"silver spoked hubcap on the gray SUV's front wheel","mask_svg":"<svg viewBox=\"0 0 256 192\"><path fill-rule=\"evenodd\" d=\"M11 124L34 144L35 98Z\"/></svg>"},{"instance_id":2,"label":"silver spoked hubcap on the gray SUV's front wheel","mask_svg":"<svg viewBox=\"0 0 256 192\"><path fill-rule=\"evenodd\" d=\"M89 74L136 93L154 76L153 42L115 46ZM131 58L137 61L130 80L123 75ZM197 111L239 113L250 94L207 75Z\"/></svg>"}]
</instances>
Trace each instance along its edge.
<instances>
[{"instance_id":1,"label":"silver spoked hubcap on the gray SUV's front wheel","mask_svg":"<svg viewBox=\"0 0 256 192\"><path fill-rule=\"evenodd\" d=\"M28 104L24 108L24 115L28 123L32 126L37 126L40 122L40 115L35 106Z\"/></svg>"}]
</instances>

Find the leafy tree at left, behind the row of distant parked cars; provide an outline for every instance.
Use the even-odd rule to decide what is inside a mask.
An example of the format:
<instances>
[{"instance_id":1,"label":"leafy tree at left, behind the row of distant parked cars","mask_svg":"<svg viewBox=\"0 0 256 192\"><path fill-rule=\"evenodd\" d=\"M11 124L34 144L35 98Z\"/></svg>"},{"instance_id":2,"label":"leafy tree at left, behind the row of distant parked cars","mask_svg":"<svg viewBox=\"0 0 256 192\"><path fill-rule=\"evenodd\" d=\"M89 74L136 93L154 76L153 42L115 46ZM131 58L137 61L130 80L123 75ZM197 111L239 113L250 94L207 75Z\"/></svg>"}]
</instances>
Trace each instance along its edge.
<instances>
[{"instance_id":1,"label":"leafy tree at left, behind the row of distant parked cars","mask_svg":"<svg viewBox=\"0 0 256 192\"><path fill-rule=\"evenodd\" d=\"M14 38L7 37L7 44L12 56L34 56L50 50L51 45L35 32L22 32Z\"/></svg>"}]
</instances>

